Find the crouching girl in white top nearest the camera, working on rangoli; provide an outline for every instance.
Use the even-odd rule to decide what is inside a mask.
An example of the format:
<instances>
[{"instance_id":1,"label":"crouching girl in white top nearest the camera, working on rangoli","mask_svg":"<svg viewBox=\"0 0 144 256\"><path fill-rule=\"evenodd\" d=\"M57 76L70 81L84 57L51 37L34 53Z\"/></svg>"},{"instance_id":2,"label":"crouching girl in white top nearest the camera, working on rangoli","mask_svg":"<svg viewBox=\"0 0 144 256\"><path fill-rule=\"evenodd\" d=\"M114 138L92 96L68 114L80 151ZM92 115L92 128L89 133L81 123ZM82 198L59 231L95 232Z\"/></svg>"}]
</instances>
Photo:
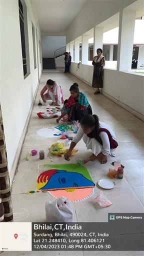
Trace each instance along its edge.
<instances>
[{"instance_id":1,"label":"crouching girl in white top nearest the camera, working on rangoli","mask_svg":"<svg viewBox=\"0 0 144 256\"><path fill-rule=\"evenodd\" d=\"M117 147L115 133L104 122L100 122L96 114L87 114L80 121L80 127L77 134L73 137L68 151L64 154L64 158L69 160L71 151L80 139L83 139L87 149L91 149L92 154L83 161L100 159L101 163L107 161L107 155L112 155Z\"/></svg>"}]
</instances>

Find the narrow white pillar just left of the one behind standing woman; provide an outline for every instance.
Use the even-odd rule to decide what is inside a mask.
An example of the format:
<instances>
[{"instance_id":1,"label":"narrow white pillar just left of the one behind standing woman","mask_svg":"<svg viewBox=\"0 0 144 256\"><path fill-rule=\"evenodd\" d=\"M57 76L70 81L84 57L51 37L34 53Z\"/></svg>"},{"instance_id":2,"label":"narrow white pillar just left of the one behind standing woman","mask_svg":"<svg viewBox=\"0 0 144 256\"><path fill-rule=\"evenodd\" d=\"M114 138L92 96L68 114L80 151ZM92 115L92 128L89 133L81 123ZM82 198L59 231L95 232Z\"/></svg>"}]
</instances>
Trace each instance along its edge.
<instances>
[{"instance_id":1,"label":"narrow white pillar just left of the one behind standing woman","mask_svg":"<svg viewBox=\"0 0 144 256\"><path fill-rule=\"evenodd\" d=\"M88 64L88 35L82 35L82 64Z\"/></svg>"}]
</instances>

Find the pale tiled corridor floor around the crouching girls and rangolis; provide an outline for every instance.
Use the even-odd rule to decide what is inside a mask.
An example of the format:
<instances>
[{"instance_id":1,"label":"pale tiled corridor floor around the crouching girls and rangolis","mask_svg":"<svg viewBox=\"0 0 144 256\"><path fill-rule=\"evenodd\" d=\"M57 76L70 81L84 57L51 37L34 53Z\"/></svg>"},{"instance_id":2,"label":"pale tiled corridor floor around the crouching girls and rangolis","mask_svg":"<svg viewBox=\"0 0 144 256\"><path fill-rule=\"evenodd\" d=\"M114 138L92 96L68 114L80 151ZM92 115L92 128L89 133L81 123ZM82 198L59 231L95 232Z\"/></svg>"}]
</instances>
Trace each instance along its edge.
<instances>
[{"instance_id":1,"label":"pale tiled corridor floor around the crouching girls and rangolis","mask_svg":"<svg viewBox=\"0 0 144 256\"><path fill-rule=\"evenodd\" d=\"M12 184L12 203L14 212L14 221L45 221L45 201L53 200L48 193L36 193L29 195L28 190L35 189L37 177L37 165L45 163L52 156L53 162L67 163L63 157L58 158L49 152L50 145L57 141L57 138L43 138L36 134L36 131L43 127L54 125L55 118L39 119L37 112L43 109L38 106L40 90L47 79L57 81L63 88L64 98L69 96L69 87L73 82L79 84L80 91L83 91L91 104L93 113L99 116L100 121L107 123L116 133L119 146L116 149L116 157L107 157L106 164L100 164L98 161L88 162L86 164L93 181L96 183L101 178L108 178L108 168L112 167L112 161L121 160L125 166L123 179L115 178L116 186L113 189L104 190L97 185L94 188L94 195L82 202L71 202L73 207L73 221L107 221L108 212L143 212L143 122L118 106L102 94L94 95L94 89L86 85L72 74L63 74L60 70L43 70L39 87L37 90L34 106L30 116L29 124L23 146L19 164ZM50 101L49 101L50 102ZM36 148L43 149L45 152L44 160L39 160L38 154L30 156L25 160L28 151ZM90 155L83 141L81 140L76 148L78 152L73 155L70 162L75 163L75 159ZM52 163L52 162L49 162ZM96 197L99 191L102 191L113 204L106 208L100 208L98 204L91 203L91 199ZM16 212L21 212L20 216ZM20 254L21 253L21 254ZM32 252L3 252L2 255L143 255L140 251L32 251Z\"/></svg>"}]
</instances>

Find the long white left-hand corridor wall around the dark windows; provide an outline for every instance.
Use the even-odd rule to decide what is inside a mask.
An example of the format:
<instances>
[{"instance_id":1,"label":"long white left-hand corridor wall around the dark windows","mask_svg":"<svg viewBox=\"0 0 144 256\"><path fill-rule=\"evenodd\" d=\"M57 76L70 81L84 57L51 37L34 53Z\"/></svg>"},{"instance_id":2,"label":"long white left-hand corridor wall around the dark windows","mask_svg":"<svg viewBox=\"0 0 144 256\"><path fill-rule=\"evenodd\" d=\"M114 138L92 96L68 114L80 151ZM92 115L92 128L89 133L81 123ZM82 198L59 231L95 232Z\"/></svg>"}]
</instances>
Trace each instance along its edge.
<instances>
[{"instance_id":1,"label":"long white left-hand corridor wall around the dark windows","mask_svg":"<svg viewBox=\"0 0 144 256\"><path fill-rule=\"evenodd\" d=\"M30 74L23 78L22 52L20 40L20 26L18 14L18 1L1 1L1 97L0 104L3 117L5 142L7 149L8 169L12 172L14 157L19 145L20 137L32 104L34 93L38 84L37 67L34 69L32 24L37 28L37 37L40 30L35 14L32 13L30 1L27 5L28 44L30 59ZM36 31L35 31L36 45ZM36 51L37 66L37 51ZM41 64L39 61L39 77ZM12 174L13 175L13 174Z\"/></svg>"}]
</instances>

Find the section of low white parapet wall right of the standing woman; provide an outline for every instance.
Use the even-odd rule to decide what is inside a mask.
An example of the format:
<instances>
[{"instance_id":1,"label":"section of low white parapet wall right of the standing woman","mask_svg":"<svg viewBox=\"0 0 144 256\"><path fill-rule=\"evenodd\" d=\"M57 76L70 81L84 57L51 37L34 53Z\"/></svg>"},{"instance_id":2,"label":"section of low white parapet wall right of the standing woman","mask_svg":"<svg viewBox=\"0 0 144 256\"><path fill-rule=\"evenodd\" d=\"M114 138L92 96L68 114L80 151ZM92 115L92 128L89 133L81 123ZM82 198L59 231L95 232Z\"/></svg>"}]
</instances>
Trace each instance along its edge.
<instances>
[{"instance_id":1,"label":"section of low white parapet wall right of the standing woman","mask_svg":"<svg viewBox=\"0 0 144 256\"><path fill-rule=\"evenodd\" d=\"M143 76L105 69L103 92L131 107L144 117Z\"/></svg>"}]
</instances>

